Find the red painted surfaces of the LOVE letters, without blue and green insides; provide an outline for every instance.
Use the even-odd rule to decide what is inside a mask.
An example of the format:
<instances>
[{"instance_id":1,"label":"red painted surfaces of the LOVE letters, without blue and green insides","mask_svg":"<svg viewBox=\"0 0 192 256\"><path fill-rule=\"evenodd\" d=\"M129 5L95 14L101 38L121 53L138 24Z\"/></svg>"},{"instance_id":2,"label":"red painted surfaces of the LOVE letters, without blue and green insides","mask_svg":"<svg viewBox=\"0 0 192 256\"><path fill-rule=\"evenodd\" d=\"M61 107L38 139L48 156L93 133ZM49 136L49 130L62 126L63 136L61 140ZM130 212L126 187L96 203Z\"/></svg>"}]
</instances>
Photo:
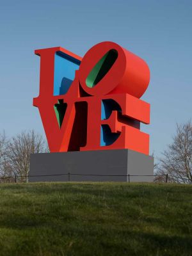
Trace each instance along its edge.
<instances>
[{"instance_id":1,"label":"red painted surfaces of the LOVE letters, without blue and green insides","mask_svg":"<svg viewBox=\"0 0 192 256\"><path fill-rule=\"evenodd\" d=\"M95 86L88 87L88 75L111 50L117 53L115 62ZM81 65L68 92L54 96L54 56L58 51L81 61ZM140 131L140 122L150 122L150 104L139 99L150 80L145 61L113 42L93 46L83 59L61 47L36 50L35 54L40 56L40 93L33 105L40 111L51 152L129 148L149 153L149 135ZM58 100L67 104L61 127L54 111ZM104 120L102 100L114 100L119 106ZM100 145L101 125L119 134L111 145Z\"/></svg>"}]
</instances>

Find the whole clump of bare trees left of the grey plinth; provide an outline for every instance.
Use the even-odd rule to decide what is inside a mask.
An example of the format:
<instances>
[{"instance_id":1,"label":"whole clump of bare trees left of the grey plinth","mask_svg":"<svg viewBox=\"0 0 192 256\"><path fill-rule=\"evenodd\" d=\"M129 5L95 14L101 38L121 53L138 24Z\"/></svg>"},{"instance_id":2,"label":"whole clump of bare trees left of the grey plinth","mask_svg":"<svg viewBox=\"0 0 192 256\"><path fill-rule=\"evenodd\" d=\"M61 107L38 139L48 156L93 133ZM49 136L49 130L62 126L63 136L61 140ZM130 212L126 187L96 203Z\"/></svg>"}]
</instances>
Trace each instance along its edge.
<instances>
[{"instance_id":1,"label":"whole clump of bare trees left of the grey plinth","mask_svg":"<svg viewBox=\"0 0 192 256\"><path fill-rule=\"evenodd\" d=\"M21 132L8 139L5 132L0 133L0 182L15 177L20 182L28 180L30 154L49 152L42 135L34 130Z\"/></svg>"}]
</instances>

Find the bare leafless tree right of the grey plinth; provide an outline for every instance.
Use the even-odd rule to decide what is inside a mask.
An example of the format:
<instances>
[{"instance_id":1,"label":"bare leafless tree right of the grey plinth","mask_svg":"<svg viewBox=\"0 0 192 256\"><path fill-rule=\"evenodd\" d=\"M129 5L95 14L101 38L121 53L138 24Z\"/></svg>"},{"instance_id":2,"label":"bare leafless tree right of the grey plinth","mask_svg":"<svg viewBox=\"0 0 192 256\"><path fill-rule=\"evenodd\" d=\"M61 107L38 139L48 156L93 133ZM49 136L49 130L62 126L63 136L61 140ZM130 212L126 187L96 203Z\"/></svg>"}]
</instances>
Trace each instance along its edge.
<instances>
[{"instance_id":1,"label":"bare leafless tree right of the grey plinth","mask_svg":"<svg viewBox=\"0 0 192 256\"><path fill-rule=\"evenodd\" d=\"M192 184L192 124L178 125L173 142L159 159L156 174L168 174L170 182Z\"/></svg>"}]
</instances>

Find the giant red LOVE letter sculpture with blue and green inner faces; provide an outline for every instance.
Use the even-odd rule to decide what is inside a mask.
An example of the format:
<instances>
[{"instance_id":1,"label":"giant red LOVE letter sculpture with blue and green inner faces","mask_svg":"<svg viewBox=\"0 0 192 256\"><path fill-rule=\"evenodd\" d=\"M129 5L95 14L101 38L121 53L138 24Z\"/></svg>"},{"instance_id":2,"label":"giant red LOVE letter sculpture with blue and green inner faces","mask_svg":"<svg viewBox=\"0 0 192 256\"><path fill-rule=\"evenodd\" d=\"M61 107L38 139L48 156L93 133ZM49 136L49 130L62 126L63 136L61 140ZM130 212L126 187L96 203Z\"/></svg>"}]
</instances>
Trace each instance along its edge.
<instances>
[{"instance_id":1,"label":"giant red LOVE letter sculpture with blue and green inner faces","mask_svg":"<svg viewBox=\"0 0 192 256\"><path fill-rule=\"evenodd\" d=\"M33 105L51 153L127 149L149 157L149 135L140 131L150 122L150 104L140 100L150 81L144 60L113 42L94 45L83 58L61 47L35 54L40 93Z\"/></svg>"}]
</instances>

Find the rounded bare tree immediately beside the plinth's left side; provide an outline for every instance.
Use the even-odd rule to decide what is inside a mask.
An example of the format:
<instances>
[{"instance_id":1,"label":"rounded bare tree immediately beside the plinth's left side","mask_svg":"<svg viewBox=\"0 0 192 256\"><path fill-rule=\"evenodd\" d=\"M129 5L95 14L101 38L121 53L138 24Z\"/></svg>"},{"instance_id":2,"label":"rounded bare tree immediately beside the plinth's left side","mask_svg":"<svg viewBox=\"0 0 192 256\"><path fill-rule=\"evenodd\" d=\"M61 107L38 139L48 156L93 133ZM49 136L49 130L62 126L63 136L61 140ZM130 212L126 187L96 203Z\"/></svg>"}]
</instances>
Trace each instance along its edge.
<instances>
[{"instance_id":1,"label":"rounded bare tree immediately beside the plinth's left side","mask_svg":"<svg viewBox=\"0 0 192 256\"><path fill-rule=\"evenodd\" d=\"M8 168L20 181L27 180L30 154L47 152L47 145L40 134L31 130L14 136L8 145Z\"/></svg>"}]
</instances>

